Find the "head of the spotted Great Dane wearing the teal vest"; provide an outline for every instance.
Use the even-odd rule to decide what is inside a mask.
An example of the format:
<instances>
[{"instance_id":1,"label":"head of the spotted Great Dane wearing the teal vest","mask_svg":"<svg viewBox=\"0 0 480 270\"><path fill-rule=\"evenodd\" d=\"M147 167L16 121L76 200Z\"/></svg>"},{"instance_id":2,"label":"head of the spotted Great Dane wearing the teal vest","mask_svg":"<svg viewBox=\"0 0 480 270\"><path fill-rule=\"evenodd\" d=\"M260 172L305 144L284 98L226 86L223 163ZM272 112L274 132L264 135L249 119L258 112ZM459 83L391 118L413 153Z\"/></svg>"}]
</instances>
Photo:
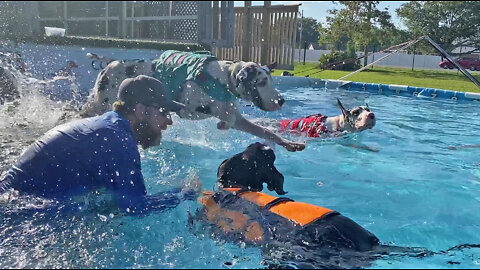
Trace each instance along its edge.
<instances>
[{"instance_id":1,"label":"head of the spotted Great Dane wearing the teal vest","mask_svg":"<svg viewBox=\"0 0 480 270\"><path fill-rule=\"evenodd\" d=\"M251 101L264 111L279 110L285 100L273 88L271 72L277 63L260 66L254 62L237 62L231 74L240 98Z\"/></svg>"}]
</instances>

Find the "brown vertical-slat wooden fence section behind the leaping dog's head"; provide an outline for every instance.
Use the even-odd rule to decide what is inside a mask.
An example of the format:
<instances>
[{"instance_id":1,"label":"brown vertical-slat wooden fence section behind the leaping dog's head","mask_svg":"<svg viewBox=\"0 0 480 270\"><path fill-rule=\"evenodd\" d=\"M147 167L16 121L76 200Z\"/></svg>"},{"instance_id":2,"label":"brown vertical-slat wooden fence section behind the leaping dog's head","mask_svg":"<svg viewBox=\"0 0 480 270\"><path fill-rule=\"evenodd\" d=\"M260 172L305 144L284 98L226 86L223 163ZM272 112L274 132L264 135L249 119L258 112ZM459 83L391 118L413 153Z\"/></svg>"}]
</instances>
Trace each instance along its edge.
<instances>
[{"instance_id":1,"label":"brown vertical-slat wooden fence section behind the leaping dog's head","mask_svg":"<svg viewBox=\"0 0 480 270\"><path fill-rule=\"evenodd\" d=\"M277 62L293 69L298 5L235 8L233 48L214 48L219 59Z\"/></svg>"}]
</instances>

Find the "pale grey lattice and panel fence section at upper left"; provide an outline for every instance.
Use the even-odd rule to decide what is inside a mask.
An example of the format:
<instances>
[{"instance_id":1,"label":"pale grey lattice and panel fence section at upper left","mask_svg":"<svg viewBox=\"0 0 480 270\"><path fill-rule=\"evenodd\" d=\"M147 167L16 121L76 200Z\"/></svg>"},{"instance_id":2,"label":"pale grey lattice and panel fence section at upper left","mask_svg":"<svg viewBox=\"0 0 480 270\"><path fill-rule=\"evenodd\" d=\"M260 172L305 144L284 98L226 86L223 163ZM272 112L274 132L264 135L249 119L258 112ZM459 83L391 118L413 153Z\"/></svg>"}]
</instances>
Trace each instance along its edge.
<instances>
[{"instance_id":1,"label":"pale grey lattice and panel fence section at upper left","mask_svg":"<svg viewBox=\"0 0 480 270\"><path fill-rule=\"evenodd\" d=\"M70 36L233 46L233 1L30 1L23 5L29 12L20 6L8 7L18 17L36 18L33 34L51 26ZM212 16L214 9L221 13Z\"/></svg>"}]
</instances>

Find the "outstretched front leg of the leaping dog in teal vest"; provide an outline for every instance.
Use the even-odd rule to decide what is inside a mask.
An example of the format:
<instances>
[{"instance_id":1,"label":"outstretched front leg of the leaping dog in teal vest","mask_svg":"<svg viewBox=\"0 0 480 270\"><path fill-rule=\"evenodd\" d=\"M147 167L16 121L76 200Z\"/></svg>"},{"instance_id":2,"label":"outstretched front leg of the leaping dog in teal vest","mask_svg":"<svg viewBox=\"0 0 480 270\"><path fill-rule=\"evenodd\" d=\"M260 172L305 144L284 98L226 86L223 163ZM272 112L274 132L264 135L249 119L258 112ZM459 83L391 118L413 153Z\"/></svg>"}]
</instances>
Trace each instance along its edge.
<instances>
[{"instance_id":1,"label":"outstretched front leg of the leaping dog in teal vest","mask_svg":"<svg viewBox=\"0 0 480 270\"><path fill-rule=\"evenodd\" d=\"M291 152L302 151L303 149L305 149L305 143L286 140L278 136L268 128L259 126L255 123L248 121L247 119L243 118L241 114L237 114L233 128L250 133L265 140L273 141L276 144L285 147L285 149Z\"/></svg>"}]
</instances>

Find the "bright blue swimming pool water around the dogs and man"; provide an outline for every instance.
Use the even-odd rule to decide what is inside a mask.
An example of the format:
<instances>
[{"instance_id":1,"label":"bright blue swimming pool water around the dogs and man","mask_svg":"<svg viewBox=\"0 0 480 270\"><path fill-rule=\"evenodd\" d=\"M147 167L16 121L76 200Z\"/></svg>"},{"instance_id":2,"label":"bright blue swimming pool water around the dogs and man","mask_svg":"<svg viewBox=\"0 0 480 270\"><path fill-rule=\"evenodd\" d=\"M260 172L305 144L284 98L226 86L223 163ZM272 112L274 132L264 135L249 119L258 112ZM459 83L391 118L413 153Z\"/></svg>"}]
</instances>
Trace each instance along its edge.
<instances>
[{"instance_id":1,"label":"bright blue swimming pool water around the dogs and man","mask_svg":"<svg viewBox=\"0 0 480 270\"><path fill-rule=\"evenodd\" d=\"M244 114L249 119L336 115L338 97L347 108L368 103L377 117L376 126L362 134L307 139L302 152L276 147L275 164L285 176L289 197L334 209L385 244L435 252L480 244L478 104L333 89L280 91L287 100L281 111L262 112L243 104ZM141 153L149 193L179 186L192 174L211 190L224 159L261 141L235 130L219 131L216 123L174 117L161 146ZM184 202L142 218L120 216L102 204L53 217L44 212L22 215L9 208L0 214L0 267L264 267L259 248L223 242L188 226L188 213L197 207L196 202ZM387 256L367 267L479 264L480 249L463 249L425 258Z\"/></svg>"}]
</instances>

